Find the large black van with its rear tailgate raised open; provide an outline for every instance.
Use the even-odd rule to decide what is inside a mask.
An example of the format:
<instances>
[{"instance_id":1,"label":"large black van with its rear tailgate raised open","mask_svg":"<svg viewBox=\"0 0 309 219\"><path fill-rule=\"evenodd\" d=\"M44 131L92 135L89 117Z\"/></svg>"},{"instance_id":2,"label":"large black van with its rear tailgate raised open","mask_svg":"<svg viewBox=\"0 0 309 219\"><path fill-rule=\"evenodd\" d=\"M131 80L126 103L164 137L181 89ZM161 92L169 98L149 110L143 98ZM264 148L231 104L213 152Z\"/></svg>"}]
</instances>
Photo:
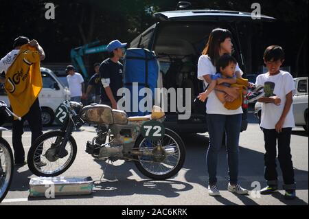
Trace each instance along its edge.
<instances>
[{"instance_id":1,"label":"large black van with its rear tailgate raised open","mask_svg":"<svg viewBox=\"0 0 309 219\"><path fill-rule=\"evenodd\" d=\"M178 113L166 113L165 127L177 132L207 132L205 103L194 98L205 87L197 79L198 58L205 47L211 30L216 27L231 30L234 53L240 68L244 67L238 23L274 21L269 16L255 16L247 12L221 10L176 10L155 14L159 20L137 36L130 48L146 48L155 51L163 75L163 87L190 88L192 91L191 117L179 120ZM179 95L179 94L177 94ZM242 130L247 130L247 110L242 116Z\"/></svg>"}]
</instances>

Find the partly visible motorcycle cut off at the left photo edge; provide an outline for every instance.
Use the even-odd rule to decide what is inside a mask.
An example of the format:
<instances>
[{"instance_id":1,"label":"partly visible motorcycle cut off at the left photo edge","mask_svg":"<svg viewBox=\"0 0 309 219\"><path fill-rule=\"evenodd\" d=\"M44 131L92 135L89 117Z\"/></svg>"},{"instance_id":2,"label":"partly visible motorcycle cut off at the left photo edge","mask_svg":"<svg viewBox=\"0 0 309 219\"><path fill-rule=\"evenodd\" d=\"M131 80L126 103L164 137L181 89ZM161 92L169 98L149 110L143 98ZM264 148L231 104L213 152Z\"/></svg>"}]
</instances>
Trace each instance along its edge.
<instances>
[{"instance_id":1,"label":"partly visible motorcycle cut off at the left photo edge","mask_svg":"<svg viewBox=\"0 0 309 219\"><path fill-rule=\"evenodd\" d=\"M14 113L12 113L12 111L10 111L5 102L0 101L0 126L12 116L17 117ZM20 117L17 118L21 119ZM0 127L0 132L3 130L8 129ZM12 149L8 141L5 141L5 139L0 136L0 203L10 189L13 178L13 170L14 158Z\"/></svg>"}]
</instances>

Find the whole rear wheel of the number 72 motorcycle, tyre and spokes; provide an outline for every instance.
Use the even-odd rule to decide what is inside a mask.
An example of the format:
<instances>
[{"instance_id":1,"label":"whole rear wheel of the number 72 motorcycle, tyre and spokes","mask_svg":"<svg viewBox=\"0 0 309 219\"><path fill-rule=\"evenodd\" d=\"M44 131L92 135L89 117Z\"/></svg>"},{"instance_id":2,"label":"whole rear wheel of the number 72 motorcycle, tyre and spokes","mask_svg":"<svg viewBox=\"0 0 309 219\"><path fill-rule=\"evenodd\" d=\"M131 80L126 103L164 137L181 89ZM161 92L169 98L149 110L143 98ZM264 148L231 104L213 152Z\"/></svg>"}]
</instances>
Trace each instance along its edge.
<instances>
[{"instance_id":1,"label":"whole rear wheel of the number 72 motorcycle, tyre and spokes","mask_svg":"<svg viewBox=\"0 0 309 219\"><path fill-rule=\"evenodd\" d=\"M152 150L156 148L156 142L139 137L135 142L135 148L139 150ZM156 161L150 156L135 157L137 169L149 178L165 180L176 175L185 162L185 144L179 135L172 130L165 128L165 135L161 139L161 146L164 150L172 150L161 161Z\"/></svg>"}]
</instances>

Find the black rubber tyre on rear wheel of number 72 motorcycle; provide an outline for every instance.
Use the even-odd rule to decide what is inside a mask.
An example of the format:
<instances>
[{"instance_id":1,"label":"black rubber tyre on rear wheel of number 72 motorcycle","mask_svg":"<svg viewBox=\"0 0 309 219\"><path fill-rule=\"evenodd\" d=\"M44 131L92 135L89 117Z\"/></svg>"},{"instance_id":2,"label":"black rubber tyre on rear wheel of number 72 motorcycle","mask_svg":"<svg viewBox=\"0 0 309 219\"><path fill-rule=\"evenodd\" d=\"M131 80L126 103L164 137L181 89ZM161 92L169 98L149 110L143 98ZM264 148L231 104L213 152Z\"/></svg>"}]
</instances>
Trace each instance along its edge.
<instances>
[{"instance_id":1,"label":"black rubber tyre on rear wheel of number 72 motorcycle","mask_svg":"<svg viewBox=\"0 0 309 219\"><path fill-rule=\"evenodd\" d=\"M179 146L180 159L179 159L179 163L176 165L174 170L168 172L167 174L160 174L160 175L152 174L151 172L148 172L141 165L138 157L135 157L135 161L134 161L137 169L141 172L141 174L143 174L144 176L147 176L148 178L152 178L154 180L165 180L167 178L171 178L172 176L175 176L179 172L179 170L183 168L183 163L185 162L185 144L183 143L183 140L181 139L181 137L179 137L179 135L177 135L176 132L168 128L165 128L165 135L169 135L170 137L172 137ZM143 140L144 140L144 137L140 136L135 142L134 148L139 148L139 145Z\"/></svg>"}]
</instances>

